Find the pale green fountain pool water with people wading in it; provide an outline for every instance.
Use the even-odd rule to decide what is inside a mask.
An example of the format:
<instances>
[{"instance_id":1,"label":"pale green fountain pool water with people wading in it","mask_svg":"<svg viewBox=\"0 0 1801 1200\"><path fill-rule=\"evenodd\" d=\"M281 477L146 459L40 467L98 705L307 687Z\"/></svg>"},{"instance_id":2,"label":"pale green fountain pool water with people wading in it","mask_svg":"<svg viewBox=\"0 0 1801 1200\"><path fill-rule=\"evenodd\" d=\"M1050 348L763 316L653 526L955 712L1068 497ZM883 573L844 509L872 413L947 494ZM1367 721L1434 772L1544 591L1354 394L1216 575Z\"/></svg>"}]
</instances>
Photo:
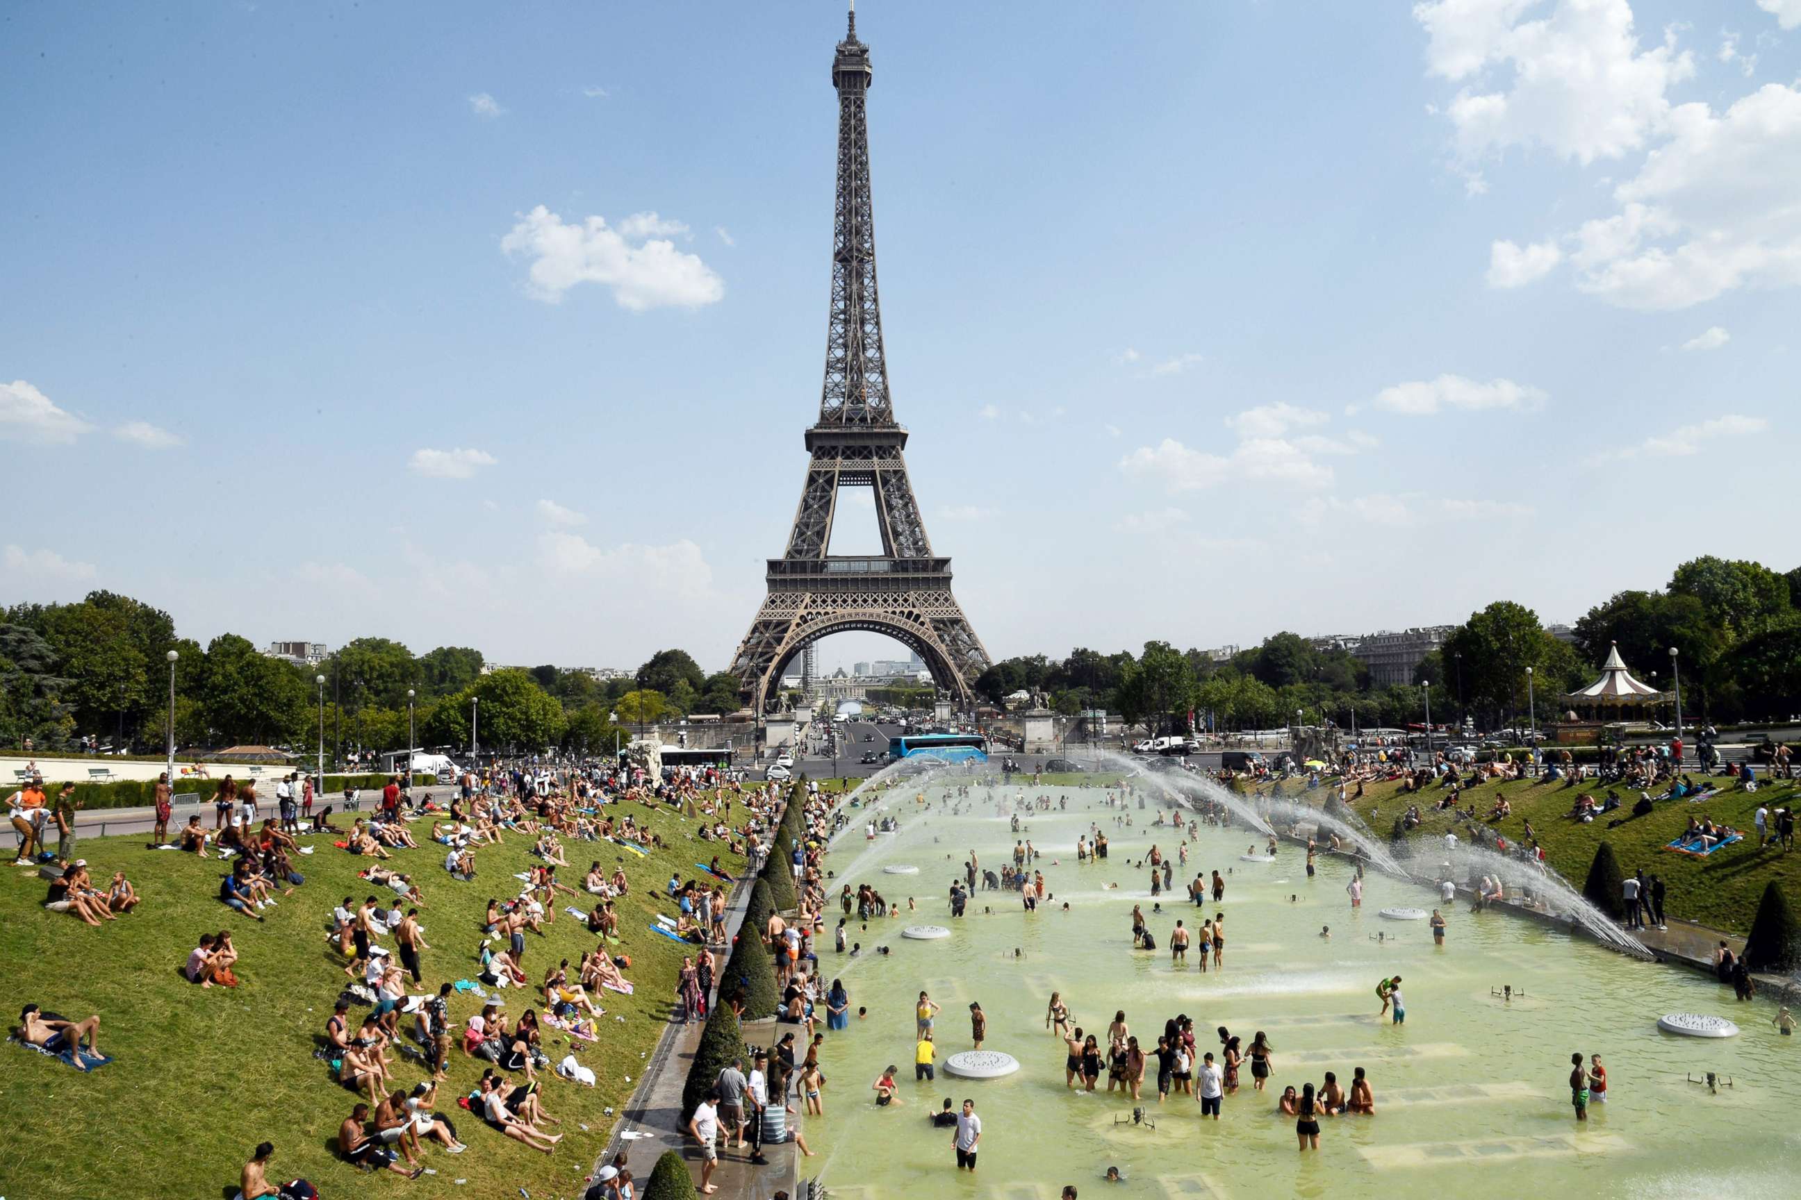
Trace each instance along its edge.
<instances>
[{"instance_id":1,"label":"pale green fountain pool water with people wading in it","mask_svg":"<svg viewBox=\"0 0 1801 1200\"><path fill-rule=\"evenodd\" d=\"M1018 790L1014 790L1018 792ZM942 797L938 788L933 797ZM922 811L913 790L877 802L900 817L895 837L864 842L861 813L827 860L836 923L837 885L872 882L902 907L899 918L872 919L852 941L866 952L834 955L821 945L821 973L843 977L852 1024L827 1036L825 1115L805 1117L818 1157L801 1164L823 1177L837 1200L899 1196L994 1196L1055 1200L1064 1184L1088 1196L1778 1196L1794 1195L1785 1162L1801 1137L1792 1070L1801 1038L1778 1036L1772 1004L1736 1004L1691 972L1637 963L1506 914L1446 912L1448 939L1432 945L1423 921L1389 921L1385 905L1432 909L1430 891L1369 876L1363 907L1353 912L1349 869L1320 860L1306 878L1302 851L1284 846L1273 864L1239 860L1246 831L1199 828L1189 864L1176 867L1176 892L1151 916L1158 952L1131 948L1131 907L1151 912L1149 874L1133 869L1153 842L1174 853L1169 828L1149 828L1156 810L1109 810L1100 790L1059 788L1070 811L1027 819L1054 901L1036 914L1014 892L971 898L969 916L951 919L949 882L967 851L1000 869L1014 835L992 806L965 802L965 815L942 806ZM974 810L974 811L971 811ZM1135 828L1113 824L1129 811ZM1100 822L1111 840L1106 864L1075 864L1075 838ZM1261 838L1259 838L1261 842ZM1061 860L1052 865L1054 860ZM919 876L884 874L911 864ZM1223 970L1171 968L1169 930L1181 918L1192 930L1199 912L1183 903L1183 882L1217 867L1226 876ZM1117 882L1118 891L1106 891ZM906 912L913 896L917 912ZM1297 896L1290 901L1290 896ZM1063 912L1063 903L1070 910ZM992 914L985 914L991 907ZM1216 905L1208 903L1207 912ZM900 928L947 925L942 941L910 941ZM1318 937L1331 925L1333 937ZM1378 945L1374 934L1399 936ZM891 954L868 954L886 945ZM1014 957L1014 950L1021 957ZM1190 952L1192 959L1192 952ZM1407 1024L1378 1020L1376 981L1405 977ZM1513 984L1511 1004L1491 988ZM989 1016L985 1049L1016 1056L1021 1069L1003 1079L913 1081L913 1000L924 988L944 1007L937 1022L940 1067L969 1049L971 1000ZM1045 1006L1061 991L1072 1018L1106 1045L1115 1009L1149 1049L1163 1020L1194 1018L1199 1051L1216 1051L1216 1025L1250 1043L1263 1029L1275 1047L1270 1088L1243 1085L1226 1096L1221 1121L1201 1121L1199 1105L1171 1096L1156 1105L1156 1063L1144 1105L1156 1130L1115 1126L1131 1101L1064 1088L1064 1049L1045 1027ZM868 1007L857 1020L855 1009ZM1727 1040L1679 1038L1657 1031L1671 1011L1715 1013L1740 1024ZM823 1025L821 1025L823 1027ZM1572 1117L1569 1056L1599 1052L1608 1069L1608 1101ZM900 1067L906 1101L877 1108L870 1083L888 1063ZM1299 1153L1293 1117L1275 1110L1284 1085L1336 1070L1349 1087L1353 1067L1369 1072L1374 1117L1322 1121L1320 1150ZM1686 1076L1713 1070L1734 1079L1709 1094ZM1081 1087L1081 1081L1077 1081ZM983 1119L980 1169L958 1173L947 1130L928 1114L946 1096L976 1101ZM1124 1184L1102 1182L1108 1164Z\"/></svg>"}]
</instances>

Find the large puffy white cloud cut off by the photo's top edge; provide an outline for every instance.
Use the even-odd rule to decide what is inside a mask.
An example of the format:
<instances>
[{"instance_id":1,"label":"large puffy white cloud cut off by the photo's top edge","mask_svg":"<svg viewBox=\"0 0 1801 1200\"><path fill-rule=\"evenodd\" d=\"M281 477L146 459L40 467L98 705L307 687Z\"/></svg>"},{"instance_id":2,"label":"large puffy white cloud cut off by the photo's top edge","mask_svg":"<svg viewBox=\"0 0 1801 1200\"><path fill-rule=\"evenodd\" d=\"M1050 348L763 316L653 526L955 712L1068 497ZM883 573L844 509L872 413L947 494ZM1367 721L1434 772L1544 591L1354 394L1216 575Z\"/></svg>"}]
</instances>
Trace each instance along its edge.
<instances>
[{"instance_id":1,"label":"large puffy white cloud cut off by the photo's top edge","mask_svg":"<svg viewBox=\"0 0 1801 1200\"><path fill-rule=\"evenodd\" d=\"M1695 74L1675 32L1641 49L1628 0L1435 0L1414 5L1430 74L1462 85L1446 106L1466 158L1543 146L1588 164L1639 149Z\"/></svg>"}]
</instances>

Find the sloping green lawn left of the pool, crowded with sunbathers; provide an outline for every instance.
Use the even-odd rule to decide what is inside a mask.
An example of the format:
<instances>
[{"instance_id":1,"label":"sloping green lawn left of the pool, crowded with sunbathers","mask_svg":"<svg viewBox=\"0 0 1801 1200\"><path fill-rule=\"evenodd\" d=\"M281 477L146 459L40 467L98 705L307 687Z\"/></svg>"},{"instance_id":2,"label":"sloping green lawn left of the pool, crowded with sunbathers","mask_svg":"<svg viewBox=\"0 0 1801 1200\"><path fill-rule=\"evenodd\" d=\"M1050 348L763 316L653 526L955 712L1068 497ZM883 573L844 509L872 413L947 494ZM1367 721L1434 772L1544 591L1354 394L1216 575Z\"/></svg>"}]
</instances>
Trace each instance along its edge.
<instances>
[{"instance_id":1,"label":"sloping green lawn left of the pool, crowded with sunbathers","mask_svg":"<svg viewBox=\"0 0 1801 1200\"><path fill-rule=\"evenodd\" d=\"M450 1155L436 1142L423 1142L421 1160L438 1175L414 1184L387 1171L364 1175L337 1157L333 1139L357 1097L313 1058L331 1006L349 982L344 961L326 943L326 927L344 896L362 901L378 892L357 878L366 858L335 849L328 837L303 840L317 847L310 856L295 856L306 885L258 925L216 900L223 874L218 860L149 851L142 837L85 838L77 855L88 860L94 880L104 887L122 869L142 896L137 912L101 928L45 910L45 883L38 874L0 865L0 946L11 972L7 1025L27 1002L77 1020L99 1013L101 1049L115 1058L81 1074L18 1045L5 1047L11 1085L0 1094L0 1128L7 1132L0 1196L229 1200L259 1141L276 1144L272 1180L304 1177L328 1200L380 1195L501 1200L519 1196L520 1187L540 1198L578 1195L612 1126L603 1110L623 1110L643 1056L670 1016L684 948L648 932L652 914L675 914L665 903L670 873L683 880L699 876L695 864L710 862L719 849L717 842L693 835L693 820L674 811L623 808L648 820L672 849L647 858L611 842L571 840L564 849L571 864L564 882L576 889L594 858L609 869L623 858L630 880L630 894L616 903L621 945L612 950L632 957L627 979L636 984L634 995L603 991L602 1040L576 1045L578 1061L594 1070L598 1087L540 1072L544 1106L562 1119L558 1132L566 1133L557 1151L544 1155L456 1106L456 1097L474 1088L488 1063L454 1051L438 1108L452 1115L468 1151ZM742 808L733 817L742 822ZM412 829L421 840L429 835L427 822ZM427 900L420 916L432 948L423 952L425 984L414 991L436 993L445 981L474 979L484 905L490 896L517 894L511 873L526 869L529 844L524 835L508 835L501 847L477 849L479 874L470 883L445 874L443 849L436 844L394 851L387 865L412 874ZM728 871L737 874L742 865L742 858L733 858ZM580 961L582 950L596 941L584 923L562 912L564 903L542 937L526 934L522 966L533 984L557 961ZM200 934L220 928L229 928L238 945L241 986L187 984L180 977L187 952ZM540 993L529 990L508 988L502 995L515 1018L526 1007L542 1007ZM454 1027L479 1006L477 997L457 993L450 1002ZM364 1006L351 1007L353 1020L364 1013ZM409 1029L411 1018L402 1027ZM569 1040L555 1029L544 1033L555 1065ZM394 1087L411 1088L430 1076L420 1060L396 1058ZM641 1164L641 1177L648 1173L650 1164Z\"/></svg>"}]
</instances>

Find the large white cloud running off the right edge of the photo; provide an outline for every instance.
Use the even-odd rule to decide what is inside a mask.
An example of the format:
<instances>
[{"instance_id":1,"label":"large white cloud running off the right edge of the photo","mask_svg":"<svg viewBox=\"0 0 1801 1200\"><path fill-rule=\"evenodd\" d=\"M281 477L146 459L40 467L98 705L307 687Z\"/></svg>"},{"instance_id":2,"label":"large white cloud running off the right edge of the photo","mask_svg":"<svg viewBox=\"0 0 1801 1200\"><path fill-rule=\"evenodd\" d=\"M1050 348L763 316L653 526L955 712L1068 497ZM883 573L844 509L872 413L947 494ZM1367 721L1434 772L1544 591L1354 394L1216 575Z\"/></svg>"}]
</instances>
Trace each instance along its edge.
<instances>
[{"instance_id":1,"label":"large white cloud running off the right edge of the photo","mask_svg":"<svg viewBox=\"0 0 1801 1200\"><path fill-rule=\"evenodd\" d=\"M1671 137L1578 234L1578 286L1677 309L1742 286L1801 282L1801 90L1769 83L1724 113L1682 104Z\"/></svg>"}]
</instances>

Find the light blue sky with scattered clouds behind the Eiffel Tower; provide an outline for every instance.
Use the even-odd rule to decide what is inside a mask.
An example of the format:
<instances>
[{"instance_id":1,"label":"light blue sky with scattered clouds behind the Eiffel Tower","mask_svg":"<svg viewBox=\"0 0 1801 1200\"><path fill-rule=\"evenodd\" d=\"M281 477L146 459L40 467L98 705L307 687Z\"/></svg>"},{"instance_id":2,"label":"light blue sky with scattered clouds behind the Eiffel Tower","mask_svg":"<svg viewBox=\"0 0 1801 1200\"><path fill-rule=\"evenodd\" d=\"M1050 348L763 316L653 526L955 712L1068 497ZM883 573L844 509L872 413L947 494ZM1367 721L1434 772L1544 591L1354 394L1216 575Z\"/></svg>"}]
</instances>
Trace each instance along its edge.
<instances>
[{"instance_id":1,"label":"light blue sky with scattered clouds behind the Eiffel Tower","mask_svg":"<svg viewBox=\"0 0 1801 1200\"><path fill-rule=\"evenodd\" d=\"M1801 0L1706 13L866 0L893 401L989 651L1801 561ZM0 599L724 666L818 412L839 36L7 5Z\"/></svg>"}]
</instances>

